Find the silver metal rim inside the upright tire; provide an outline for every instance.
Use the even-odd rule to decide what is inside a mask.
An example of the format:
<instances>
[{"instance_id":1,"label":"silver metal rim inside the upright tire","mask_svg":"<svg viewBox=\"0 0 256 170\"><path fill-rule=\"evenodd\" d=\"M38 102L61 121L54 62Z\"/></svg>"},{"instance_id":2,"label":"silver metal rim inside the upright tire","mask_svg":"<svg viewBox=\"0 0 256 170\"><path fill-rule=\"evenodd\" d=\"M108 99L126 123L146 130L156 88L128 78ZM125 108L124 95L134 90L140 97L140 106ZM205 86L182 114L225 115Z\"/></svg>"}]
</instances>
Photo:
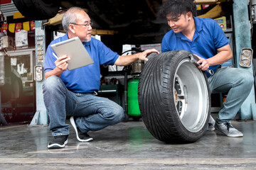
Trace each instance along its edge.
<instances>
[{"instance_id":1,"label":"silver metal rim inside the upright tire","mask_svg":"<svg viewBox=\"0 0 256 170\"><path fill-rule=\"evenodd\" d=\"M190 132L200 131L208 118L208 86L201 70L188 59L175 72L174 102L183 126Z\"/></svg>"}]
</instances>

